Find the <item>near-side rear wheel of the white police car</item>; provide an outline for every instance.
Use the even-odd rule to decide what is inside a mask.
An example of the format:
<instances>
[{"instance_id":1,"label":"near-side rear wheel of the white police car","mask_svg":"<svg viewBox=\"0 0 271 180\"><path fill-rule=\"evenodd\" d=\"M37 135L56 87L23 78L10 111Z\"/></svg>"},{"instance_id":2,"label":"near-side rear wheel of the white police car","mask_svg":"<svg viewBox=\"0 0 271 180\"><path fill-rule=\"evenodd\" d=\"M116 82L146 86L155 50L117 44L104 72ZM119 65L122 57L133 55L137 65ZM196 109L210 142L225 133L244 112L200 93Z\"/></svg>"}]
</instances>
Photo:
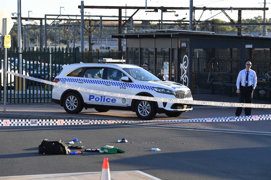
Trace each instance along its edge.
<instances>
[{"instance_id":1,"label":"near-side rear wheel of the white police car","mask_svg":"<svg viewBox=\"0 0 271 180\"><path fill-rule=\"evenodd\" d=\"M82 111L83 105L80 96L76 93L68 93L64 97L64 109L67 113L78 114Z\"/></svg>"}]
</instances>

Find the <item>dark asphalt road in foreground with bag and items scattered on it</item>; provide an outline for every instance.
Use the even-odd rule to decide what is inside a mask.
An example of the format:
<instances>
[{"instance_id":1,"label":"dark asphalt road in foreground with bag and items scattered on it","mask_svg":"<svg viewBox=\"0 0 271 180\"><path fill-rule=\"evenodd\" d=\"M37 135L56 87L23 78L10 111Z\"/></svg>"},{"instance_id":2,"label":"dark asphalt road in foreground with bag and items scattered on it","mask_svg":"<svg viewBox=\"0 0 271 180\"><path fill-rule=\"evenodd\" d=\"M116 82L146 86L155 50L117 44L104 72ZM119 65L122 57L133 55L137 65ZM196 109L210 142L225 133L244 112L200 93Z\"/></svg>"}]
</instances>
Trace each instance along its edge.
<instances>
[{"instance_id":1,"label":"dark asphalt road in foreground with bag and items scattered on it","mask_svg":"<svg viewBox=\"0 0 271 180\"><path fill-rule=\"evenodd\" d=\"M1 127L0 176L139 170L160 179L271 179L271 136L140 125ZM125 153L42 155L44 138L74 138L86 148L110 145ZM117 140L126 138L127 143ZM159 148L161 151L151 151Z\"/></svg>"}]
</instances>

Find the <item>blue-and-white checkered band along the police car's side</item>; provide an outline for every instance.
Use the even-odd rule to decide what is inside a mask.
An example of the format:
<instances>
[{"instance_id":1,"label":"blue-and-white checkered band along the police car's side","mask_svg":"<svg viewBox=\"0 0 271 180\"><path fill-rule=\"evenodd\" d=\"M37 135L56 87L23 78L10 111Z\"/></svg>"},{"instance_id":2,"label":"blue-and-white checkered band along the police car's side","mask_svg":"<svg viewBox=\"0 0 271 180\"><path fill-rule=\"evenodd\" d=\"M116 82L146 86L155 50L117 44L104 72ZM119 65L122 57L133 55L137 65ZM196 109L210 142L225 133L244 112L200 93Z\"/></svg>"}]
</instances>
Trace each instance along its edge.
<instances>
[{"instance_id":1,"label":"blue-and-white checkered band along the police car's side","mask_svg":"<svg viewBox=\"0 0 271 180\"><path fill-rule=\"evenodd\" d=\"M114 80L102 80L102 79L92 79L92 78L59 78L60 82L84 82L88 84L111 84L113 86L119 87L127 87L127 88L135 88L135 89L144 89L144 90L153 90L151 86L138 85L134 83L124 83L122 81L114 81Z\"/></svg>"}]
</instances>

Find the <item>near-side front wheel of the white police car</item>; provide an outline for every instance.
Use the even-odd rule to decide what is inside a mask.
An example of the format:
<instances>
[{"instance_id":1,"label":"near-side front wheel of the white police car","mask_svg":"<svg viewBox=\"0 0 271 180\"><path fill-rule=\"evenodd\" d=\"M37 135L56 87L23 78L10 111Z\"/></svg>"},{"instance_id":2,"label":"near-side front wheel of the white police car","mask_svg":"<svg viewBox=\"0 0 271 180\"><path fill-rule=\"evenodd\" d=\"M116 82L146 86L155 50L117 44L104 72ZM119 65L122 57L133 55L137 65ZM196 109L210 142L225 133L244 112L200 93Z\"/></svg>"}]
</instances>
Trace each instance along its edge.
<instances>
[{"instance_id":1,"label":"near-side front wheel of the white police car","mask_svg":"<svg viewBox=\"0 0 271 180\"><path fill-rule=\"evenodd\" d=\"M157 113L155 103L152 101L138 100L135 104L135 113L140 119L153 119Z\"/></svg>"}]
</instances>

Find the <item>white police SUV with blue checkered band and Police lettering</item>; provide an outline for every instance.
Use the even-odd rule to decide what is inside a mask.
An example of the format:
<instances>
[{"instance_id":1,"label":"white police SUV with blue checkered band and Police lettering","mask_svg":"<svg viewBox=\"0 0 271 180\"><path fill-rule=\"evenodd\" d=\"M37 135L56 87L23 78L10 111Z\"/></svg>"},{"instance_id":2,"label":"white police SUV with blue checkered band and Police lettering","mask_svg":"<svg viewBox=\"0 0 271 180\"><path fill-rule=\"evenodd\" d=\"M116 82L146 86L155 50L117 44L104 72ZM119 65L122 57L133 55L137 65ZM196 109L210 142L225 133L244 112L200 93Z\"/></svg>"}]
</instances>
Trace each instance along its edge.
<instances>
[{"instance_id":1,"label":"white police SUV with blue checkered band and Police lettering","mask_svg":"<svg viewBox=\"0 0 271 180\"><path fill-rule=\"evenodd\" d=\"M83 108L95 108L99 112L110 109L136 112L140 119L150 120L156 113L177 117L192 110L190 104L177 104L136 100L118 97L118 94L150 96L158 98L193 100L191 90L179 83L158 79L149 71L133 64L78 63L63 65L54 82L53 102L64 106L65 111L77 114ZM64 85L75 86L74 89ZM81 88L116 93L114 96L80 91Z\"/></svg>"}]
</instances>

